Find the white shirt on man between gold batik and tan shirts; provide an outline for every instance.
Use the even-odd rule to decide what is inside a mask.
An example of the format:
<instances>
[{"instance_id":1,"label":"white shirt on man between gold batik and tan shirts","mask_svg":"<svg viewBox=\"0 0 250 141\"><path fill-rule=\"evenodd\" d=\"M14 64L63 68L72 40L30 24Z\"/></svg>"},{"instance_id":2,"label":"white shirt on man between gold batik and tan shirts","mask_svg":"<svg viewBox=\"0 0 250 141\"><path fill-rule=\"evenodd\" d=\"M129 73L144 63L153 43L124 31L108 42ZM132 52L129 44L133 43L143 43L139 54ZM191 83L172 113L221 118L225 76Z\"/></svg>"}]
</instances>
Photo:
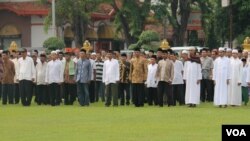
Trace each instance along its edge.
<instances>
[{"instance_id":1,"label":"white shirt on man between gold batik and tan shirts","mask_svg":"<svg viewBox=\"0 0 250 141\"><path fill-rule=\"evenodd\" d=\"M146 85L148 88L157 88L158 85L158 80L156 79L156 71L157 71L157 64L149 64L148 65L148 76L147 76L147 81L146 81Z\"/></svg>"}]
</instances>

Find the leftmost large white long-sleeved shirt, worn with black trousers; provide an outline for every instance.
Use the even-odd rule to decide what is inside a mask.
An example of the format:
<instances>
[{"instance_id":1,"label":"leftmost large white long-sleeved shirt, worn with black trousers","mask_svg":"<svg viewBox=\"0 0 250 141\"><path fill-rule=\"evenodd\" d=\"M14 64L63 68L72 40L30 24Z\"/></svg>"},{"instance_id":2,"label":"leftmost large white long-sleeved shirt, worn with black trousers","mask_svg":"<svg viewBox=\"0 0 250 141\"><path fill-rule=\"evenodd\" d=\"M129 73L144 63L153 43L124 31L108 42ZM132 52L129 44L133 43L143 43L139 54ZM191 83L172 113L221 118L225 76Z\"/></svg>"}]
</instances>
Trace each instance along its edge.
<instances>
[{"instance_id":1,"label":"leftmost large white long-sleeved shirt, worn with black trousers","mask_svg":"<svg viewBox=\"0 0 250 141\"><path fill-rule=\"evenodd\" d=\"M18 59L18 70L17 70L17 79L20 80L32 80L36 78L36 70L33 59L26 56Z\"/></svg>"}]
</instances>

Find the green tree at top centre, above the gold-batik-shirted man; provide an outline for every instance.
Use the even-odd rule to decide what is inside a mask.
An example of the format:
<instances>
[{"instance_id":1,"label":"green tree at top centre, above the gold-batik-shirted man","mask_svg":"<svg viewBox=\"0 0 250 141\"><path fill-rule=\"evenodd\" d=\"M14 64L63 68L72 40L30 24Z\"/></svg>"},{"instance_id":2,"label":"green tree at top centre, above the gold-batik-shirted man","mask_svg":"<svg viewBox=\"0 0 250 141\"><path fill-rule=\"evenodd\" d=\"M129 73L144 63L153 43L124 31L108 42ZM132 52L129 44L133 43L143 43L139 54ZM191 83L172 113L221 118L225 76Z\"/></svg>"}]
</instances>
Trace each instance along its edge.
<instances>
[{"instance_id":1,"label":"green tree at top centre, above the gold-batik-shirted man","mask_svg":"<svg viewBox=\"0 0 250 141\"><path fill-rule=\"evenodd\" d=\"M103 0L115 10L114 23L117 32L122 32L129 46L135 43L144 30L146 18L149 16L151 0Z\"/></svg>"}]
</instances>

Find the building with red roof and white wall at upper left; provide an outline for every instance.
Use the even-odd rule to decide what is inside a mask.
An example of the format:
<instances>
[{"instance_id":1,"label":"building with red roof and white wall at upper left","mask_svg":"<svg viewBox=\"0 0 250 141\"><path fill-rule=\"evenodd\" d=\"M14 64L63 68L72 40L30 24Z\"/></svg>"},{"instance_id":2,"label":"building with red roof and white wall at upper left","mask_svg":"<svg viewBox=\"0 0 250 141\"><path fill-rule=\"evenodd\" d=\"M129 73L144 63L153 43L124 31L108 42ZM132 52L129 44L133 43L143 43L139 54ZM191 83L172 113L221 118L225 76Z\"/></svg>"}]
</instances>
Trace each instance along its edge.
<instances>
[{"instance_id":1,"label":"building with red roof and white wall at upper left","mask_svg":"<svg viewBox=\"0 0 250 141\"><path fill-rule=\"evenodd\" d=\"M18 47L42 47L52 30L44 31L44 18L50 7L34 0L0 1L0 49L7 49L12 41Z\"/></svg>"}]
</instances>

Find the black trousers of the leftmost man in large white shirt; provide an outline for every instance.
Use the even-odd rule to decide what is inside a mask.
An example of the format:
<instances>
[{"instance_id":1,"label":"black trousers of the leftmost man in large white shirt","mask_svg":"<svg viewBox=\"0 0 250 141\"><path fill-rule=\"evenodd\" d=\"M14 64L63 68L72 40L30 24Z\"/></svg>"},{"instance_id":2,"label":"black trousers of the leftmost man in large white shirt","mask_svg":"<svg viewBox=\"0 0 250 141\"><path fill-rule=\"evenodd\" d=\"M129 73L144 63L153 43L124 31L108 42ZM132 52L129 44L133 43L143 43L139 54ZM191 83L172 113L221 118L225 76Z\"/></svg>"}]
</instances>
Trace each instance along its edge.
<instances>
[{"instance_id":1,"label":"black trousers of the leftmost man in large white shirt","mask_svg":"<svg viewBox=\"0 0 250 141\"><path fill-rule=\"evenodd\" d=\"M30 80L21 80L19 82L19 91L21 95L21 102L23 106L30 106L32 100L32 85Z\"/></svg>"}]
</instances>

